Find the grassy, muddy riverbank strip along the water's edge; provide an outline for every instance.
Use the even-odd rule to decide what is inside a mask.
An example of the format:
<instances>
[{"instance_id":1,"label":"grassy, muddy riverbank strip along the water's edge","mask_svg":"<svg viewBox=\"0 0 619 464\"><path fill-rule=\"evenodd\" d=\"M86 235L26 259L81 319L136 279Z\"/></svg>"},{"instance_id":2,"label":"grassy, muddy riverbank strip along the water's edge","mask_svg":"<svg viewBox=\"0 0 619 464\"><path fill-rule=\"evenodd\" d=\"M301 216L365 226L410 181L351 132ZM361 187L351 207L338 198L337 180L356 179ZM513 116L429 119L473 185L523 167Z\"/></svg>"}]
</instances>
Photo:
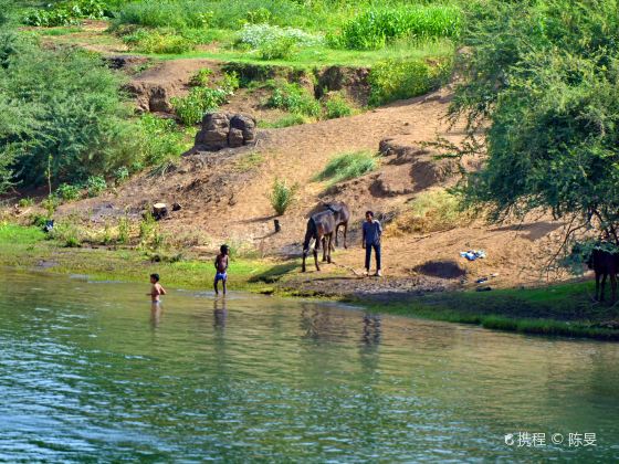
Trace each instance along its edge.
<instances>
[{"instance_id":1,"label":"grassy, muddy riverbank strip along the water's edge","mask_svg":"<svg viewBox=\"0 0 619 464\"><path fill-rule=\"evenodd\" d=\"M147 283L157 272L162 283L210 288L210 259L179 257L156 262L133 249L62 247L36 228L0 225L0 265L63 274L87 274L98 281ZM592 302L592 282L541 288L457 292L438 280L367 280L345 270L300 276L297 260L234 257L230 289L277 296L323 297L353 303L370 312L421 317L485 328L619 340L619 309ZM307 285L307 283L313 283ZM348 291L346 291L346 288Z\"/></svg>"}]
</instances>

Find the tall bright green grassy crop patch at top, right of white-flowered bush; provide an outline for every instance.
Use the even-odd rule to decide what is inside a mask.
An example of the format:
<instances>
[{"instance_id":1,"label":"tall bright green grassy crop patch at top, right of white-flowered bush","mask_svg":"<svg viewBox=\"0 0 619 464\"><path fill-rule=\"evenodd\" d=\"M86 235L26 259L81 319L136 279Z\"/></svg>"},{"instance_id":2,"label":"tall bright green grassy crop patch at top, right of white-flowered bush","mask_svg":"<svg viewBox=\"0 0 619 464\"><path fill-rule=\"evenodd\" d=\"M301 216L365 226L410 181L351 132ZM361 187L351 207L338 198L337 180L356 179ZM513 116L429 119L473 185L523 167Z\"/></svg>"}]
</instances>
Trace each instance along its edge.
<instances>
[{"instance_id":1,"label":"tall bright green grassy crop patch at top, right of white-flowered bush","mask_svg":"<svg viewBox=\"0 0 619 464\"><path fill-rule=\"evenodd\" d=\"M359 14L344 24L339 35L329 36L329 43L349 50L377 50L400 38L455 38L460 25L460 10L455 7L402 6Z\"/></svg>"}]
</instances>

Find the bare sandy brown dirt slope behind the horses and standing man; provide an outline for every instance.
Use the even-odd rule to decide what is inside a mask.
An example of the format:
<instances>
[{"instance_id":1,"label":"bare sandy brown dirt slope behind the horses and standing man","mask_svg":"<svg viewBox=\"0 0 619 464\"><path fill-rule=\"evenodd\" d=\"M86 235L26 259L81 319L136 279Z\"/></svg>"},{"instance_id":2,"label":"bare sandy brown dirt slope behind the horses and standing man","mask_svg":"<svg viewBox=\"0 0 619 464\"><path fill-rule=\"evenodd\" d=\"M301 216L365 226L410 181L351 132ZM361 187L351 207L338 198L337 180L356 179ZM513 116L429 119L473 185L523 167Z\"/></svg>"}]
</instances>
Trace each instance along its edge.
<instances>
[{"instance_id":1,"label":"bare sandy brown dirt slope behind the horses and standing man","mask_svg":"<svg viewBox=\"0 0 619 464\"><path fill-rule=\"evenodd\" d=\"M101 221L124 211L137 214L156 201L179 202L182 210L162 222L164 230L175 238L201 233L210 238L211 247L233 242L266 254L298 255L308 213L321 199L343 200L353 209L355 247L338 250L335 256L337 265L353 275L363 267L357 231L364 211L390 213L400 209L417 193L416 172L412 165L387 158L378 172L335 189L313 181L313 177L334 155L378 150L386 138L411 146L437 136L459 140L461 128L448 130L444 120L449 99L449 89L442 89L353 117L262 130L253 148L190 156L165 177L140 176L115 196L64 208L88 212ZM277 234L272 233L274 217L267 199L275 178L298 184L298 201L280 218L283 230ZM402 189L406 184L413 188ZM474 224L424 236L386 238L385 270L390 275L447 277L451 283L474 282L491 274L496 274L491 278L493 286L534 283L543 277L544 257L556 243L559 226L544 221L506 228ZM487 257L465 262L459 252L469 249L484 249Z\"/></svg>"}]
</instances>

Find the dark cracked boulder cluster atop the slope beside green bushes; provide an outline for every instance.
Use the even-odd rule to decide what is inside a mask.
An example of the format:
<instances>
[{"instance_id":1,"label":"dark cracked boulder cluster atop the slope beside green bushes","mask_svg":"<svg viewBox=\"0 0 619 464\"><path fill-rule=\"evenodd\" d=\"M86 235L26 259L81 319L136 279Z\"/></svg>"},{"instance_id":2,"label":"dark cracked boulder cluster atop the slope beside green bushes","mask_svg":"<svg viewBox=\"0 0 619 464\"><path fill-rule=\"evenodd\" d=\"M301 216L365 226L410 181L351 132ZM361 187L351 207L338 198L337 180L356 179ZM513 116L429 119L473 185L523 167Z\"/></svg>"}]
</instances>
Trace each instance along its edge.
<instances>
[{"instance_id":1,"label":"dark cracked boulder cluster atop the slope beside green bushes","mask_svg":"<svg viewBox=\"0 0 619 464\"><path fill-rule=\"evenodd\" d=\"M256 124L249 115L209 113L196 135L195 151L218 151L255 143Z\"/></svg>"}]
</instances>

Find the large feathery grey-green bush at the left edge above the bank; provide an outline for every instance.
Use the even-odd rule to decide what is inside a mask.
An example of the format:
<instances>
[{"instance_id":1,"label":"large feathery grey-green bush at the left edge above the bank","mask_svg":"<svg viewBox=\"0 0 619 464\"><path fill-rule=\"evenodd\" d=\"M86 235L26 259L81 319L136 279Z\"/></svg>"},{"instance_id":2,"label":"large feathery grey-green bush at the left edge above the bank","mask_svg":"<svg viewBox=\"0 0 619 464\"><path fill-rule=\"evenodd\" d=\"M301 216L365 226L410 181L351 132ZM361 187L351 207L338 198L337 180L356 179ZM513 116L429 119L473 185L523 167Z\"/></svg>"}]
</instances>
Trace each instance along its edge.
<instances>
[{"instance_id":1,"label":"large feathery grey-green bush at the left edge above the bank","mask_svg":"<svg viewBox=\"0 0 619 464\"><path fill-rule=\"evenodd\" d=\"M49 168L54 182L80 183L140 156L123 81L101 57L42 51L0 32L8 43L0 45L0 190L13 180L42 184Z\"/></svg>"}]
</instances>

